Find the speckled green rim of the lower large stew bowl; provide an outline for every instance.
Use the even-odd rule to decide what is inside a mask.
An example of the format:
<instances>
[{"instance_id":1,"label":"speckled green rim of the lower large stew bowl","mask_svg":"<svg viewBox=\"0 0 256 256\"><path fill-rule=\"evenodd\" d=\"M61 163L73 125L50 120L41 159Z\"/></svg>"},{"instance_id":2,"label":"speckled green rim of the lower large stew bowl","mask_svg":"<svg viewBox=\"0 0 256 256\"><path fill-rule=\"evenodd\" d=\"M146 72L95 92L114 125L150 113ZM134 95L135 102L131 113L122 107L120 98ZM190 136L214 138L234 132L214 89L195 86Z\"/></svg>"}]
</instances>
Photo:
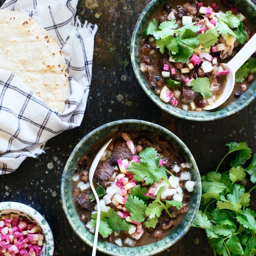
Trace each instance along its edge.
<instances>
[{"instance_id":1,"label":"speckled green rim of the lower large stew bowl","mask_svg":"<svg viewBox=\"0 0 256 256\"><path fill-rule=\"evenodd\" d=\"M171 240L171 238L169 236L171 236L172 233L170 233L170 235L166 236L165 238L163 238L162 240L160 240L156 243L151 243L151 244L148 244L145 246L134 247L134 248L118 247L116 245L106 243L102 240L100 240L100 241L98 240L97 249L103 253L108 254L108 255L113 255L113 256L116 256L116 255L119 255L119 256L122 256L122 255L145 256L145 255L147 255L147 256L150 256L150 255L155 255L155 254L167 249L168 247L172 246L174 243L176 243L178 240L180 240L182 238L182 236L184 236L188 232L189 228L191 227L191 225L195 219L196 213L199 209L201 193L202 193L201 176L200 176L199 170L197 168L197 165L195 163L195 159L194 159L193 155L189 151L189 148L176 135L174 135L168 129L163 128L157 124L147 122L147 121L128 119L128 120L113 121L113 122L104 124L101 127L96 128L93 131L91 131L88 135L86 135L83 139L81 139L81 141L76 145L76 147L74 148L73 152L71 153L71 155L69 156L69 158L67 160L67 163L66 163L66 166L64 168L63 175L61 178L61 202L62 202L63 210L67 217L67 220L68 220L69 224L71 225L72 229L74 230L74 232L77 234L77 236L79 236L81 238L82 241L84 241L85 243L87 243L89 246L92 247L94 236L92 234L90 234L89 231L84 227L84 224L81 222L79 216L76 213L74 214L73 202L67 202L68 198L65 194L66 193L65 189L68 190L68 193L70 193L69 196L71 196L71 190L72 190L71 184L70 184L70 188L65 188L65 182L67 179L67 175L70 175L69 174L69 165L71 165L71 162L73 161L75 156L76 156L76 159L79 157L77 154L80 151L80 148L82 147L82 145L87 142L88 138L91 138L92 136L96 137L97 136L96 134L101 133L106 128L115 128L116 126L121 126L122 124L128 124L128 123L134 124L135 128L136 128L136 125L143 125L143 129L149 129L149 127L153 127L152 129L157 129L157 130L160 129L160 130L162 130L163 133L168 134L168 136L174 140L172 143L179 145L179 147L182 148L182 150L184 152L186 152L186 159L187 160L189 159L189 162L192 164L192 167L190 169L191 169L193 178L196 181L196 184L195 184L196 194L194 194L191 197L191 198L194 198L193 200L195 200L195 206L194 206L194 208L191 208L191 212L189 212L189 216L188 216L188 218L190 217L189 220L187 220L188 218L186 218L186 216L185 216L184 220L186 220L186 226L184 226L185 225L184 224L182 227L182 223L184 222L183 221L172 232L172 233L174 233L173 236L175 236L177 234L175 239ZM144 128L144 126L145 126L145 128ZM109 132L109 133L111 133L111 132ZM102 143L103 143L103 141L102 141ZM183 157L185 157L185 156L183 155ZM193 171L192 171L192 169L193 169ZM71 173L73 173L73 169L71 170ZM70 175L69 178L72 179L72 175ZM193 193L195 193L195 191ZM69 212L69 208L72 208L72 207L73 207L73 209L71 209ZM73 214L73 216L71 216L70 213ZM81 224L83 226L81 226ZM79 229L81 227L82 227L82 231L79 231ZM179 230L181 229L181 227L182 227L182 232L180 232L180 234L179 234ZM87 236L90 236L91 239L86 239L81 234L81 232L84 232L84 234L86 234ZM160 246L157 246L157 244ZM141 252L141 250L142 250L142 252Z\"/></svg>"}]
</instances>

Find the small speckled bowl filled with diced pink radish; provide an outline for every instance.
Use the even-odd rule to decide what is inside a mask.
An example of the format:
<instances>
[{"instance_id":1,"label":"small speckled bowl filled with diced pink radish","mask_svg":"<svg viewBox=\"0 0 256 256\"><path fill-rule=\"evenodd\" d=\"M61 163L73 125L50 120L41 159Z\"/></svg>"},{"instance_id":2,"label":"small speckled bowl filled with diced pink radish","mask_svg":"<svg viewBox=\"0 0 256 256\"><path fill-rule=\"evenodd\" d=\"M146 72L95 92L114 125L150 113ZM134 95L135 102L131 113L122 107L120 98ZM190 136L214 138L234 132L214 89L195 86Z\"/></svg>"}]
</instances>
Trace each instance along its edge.
<instances>
[{"instance_id":1,"label":"small speckled bowl filled with diced pink radish","mask_svg":"<svg viewBox=\"0 0 256 256\"><path fill-rule=\"evenodd\" d=\"M52 230L38 211L20 202L0 202L1 255L54 255Z\"/></svg>"}]
</instances>

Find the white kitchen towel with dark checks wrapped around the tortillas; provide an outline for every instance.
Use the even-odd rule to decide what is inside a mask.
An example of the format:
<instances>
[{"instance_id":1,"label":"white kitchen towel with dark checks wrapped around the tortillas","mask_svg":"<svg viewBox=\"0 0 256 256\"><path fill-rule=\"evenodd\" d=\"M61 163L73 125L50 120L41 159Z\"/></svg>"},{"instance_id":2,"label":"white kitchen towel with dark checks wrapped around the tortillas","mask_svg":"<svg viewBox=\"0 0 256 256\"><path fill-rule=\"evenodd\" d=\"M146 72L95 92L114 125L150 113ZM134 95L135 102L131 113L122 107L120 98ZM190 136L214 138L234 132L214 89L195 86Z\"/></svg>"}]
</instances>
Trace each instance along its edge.
<instances>
[{"instance_id":1,"label":"white kitchen towel with dark checks wrapped around the tortillas","mask_svg":"<svg viewBox=\"0 0 256 256\"><path fill-rule=\"evenodd\" d=\"M64 53L68 92L62 114L54 112L18 76L0 69L0 174L43 153L47 140L81 124L92 74L97 26L76 18L78 0L7 0L1 9L25 13L56 40Z\"/></svg>"}]
</instances>

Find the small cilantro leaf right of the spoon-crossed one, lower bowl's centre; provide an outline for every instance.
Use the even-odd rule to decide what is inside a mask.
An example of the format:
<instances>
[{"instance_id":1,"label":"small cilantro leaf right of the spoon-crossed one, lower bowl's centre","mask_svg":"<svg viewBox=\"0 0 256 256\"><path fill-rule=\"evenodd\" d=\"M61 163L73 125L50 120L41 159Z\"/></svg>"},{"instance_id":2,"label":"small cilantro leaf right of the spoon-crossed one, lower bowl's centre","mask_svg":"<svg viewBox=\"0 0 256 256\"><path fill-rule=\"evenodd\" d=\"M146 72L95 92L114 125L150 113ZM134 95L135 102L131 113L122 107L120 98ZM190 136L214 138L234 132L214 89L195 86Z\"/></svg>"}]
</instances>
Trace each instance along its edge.
<instances>
[{"instance_id":1,"label":"small cilantro leaf right of the spoon-crossed one, lower bowl's centre","mask_svg":"<svg viewBox=\"0 0 256 256\"><path fill-rule=\"evenodd\" d=\"M125 208L131 214L131 219L135 222L143 222L145 220L147 205L137 196L129 195L125 203Z\"/></svg>"}]
</instances>

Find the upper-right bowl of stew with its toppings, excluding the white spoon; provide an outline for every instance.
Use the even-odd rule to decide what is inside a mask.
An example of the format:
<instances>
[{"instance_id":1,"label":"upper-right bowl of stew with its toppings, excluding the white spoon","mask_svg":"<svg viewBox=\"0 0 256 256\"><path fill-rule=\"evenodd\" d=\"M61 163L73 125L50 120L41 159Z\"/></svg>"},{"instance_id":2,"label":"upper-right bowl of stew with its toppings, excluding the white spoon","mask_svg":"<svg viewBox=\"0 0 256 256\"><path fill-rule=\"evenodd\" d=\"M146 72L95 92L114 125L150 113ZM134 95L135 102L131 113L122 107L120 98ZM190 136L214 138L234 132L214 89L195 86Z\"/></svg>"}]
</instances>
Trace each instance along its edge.
<instances>
[{"instance_id":1,"label":"upper-right bowl of stew with its toppings, excluding the white spoon","mask_svg":"<svg viewBox=\"0 0 256 256\"><path fill-rule=\"evenodd\" d=\"M239 3L239 4L238 4ZM256 54L236 72L229 99L222 95L227 63L255 34L256 6L244 1L152 0L131 40L131 61L141 88L160 108L188 120L232 115L256 98ZM239 8L237 8L239 7ZM252 64L253 63L253 64Z\"/></svg>"}]
</instances>

